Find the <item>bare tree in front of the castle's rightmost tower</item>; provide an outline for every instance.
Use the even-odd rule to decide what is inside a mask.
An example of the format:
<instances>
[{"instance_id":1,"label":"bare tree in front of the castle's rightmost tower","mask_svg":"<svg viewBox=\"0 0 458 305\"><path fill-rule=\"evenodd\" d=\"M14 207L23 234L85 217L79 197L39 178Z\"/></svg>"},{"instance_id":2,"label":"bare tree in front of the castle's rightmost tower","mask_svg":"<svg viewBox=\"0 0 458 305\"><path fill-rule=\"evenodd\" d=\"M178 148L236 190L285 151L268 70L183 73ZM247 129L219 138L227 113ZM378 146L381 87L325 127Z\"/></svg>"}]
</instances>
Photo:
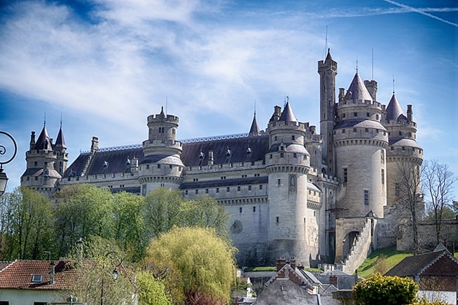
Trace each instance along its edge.
<instances>
[{"instance_id":1,"label":"bare tree in front of the castle's rightmost tower","mask_svg":"<svg viewBox=\"0 0 458 305\"><path fill-rule=\"evenodd\" d=\"M423 206L423 194L421 193L421 161L409 161L404 159L397 162L400 206L408 211L412 230L412 242L414 255L419 254L419 218L421 206Z\"/></svg>"}]
</instances>

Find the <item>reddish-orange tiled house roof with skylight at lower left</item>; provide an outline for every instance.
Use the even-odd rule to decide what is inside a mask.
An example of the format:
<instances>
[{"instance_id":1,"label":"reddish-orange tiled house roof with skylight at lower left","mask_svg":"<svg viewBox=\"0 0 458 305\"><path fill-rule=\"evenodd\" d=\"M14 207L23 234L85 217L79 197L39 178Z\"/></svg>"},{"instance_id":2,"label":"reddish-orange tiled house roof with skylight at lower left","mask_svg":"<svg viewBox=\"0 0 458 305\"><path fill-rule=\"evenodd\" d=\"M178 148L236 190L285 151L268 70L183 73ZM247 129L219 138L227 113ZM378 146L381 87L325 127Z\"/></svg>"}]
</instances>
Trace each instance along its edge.
<instances>
[{"instance_id":1,"label":"reddish-orange tiled house roof with skylight at lower left","mask_svg":"<svg viewBox=\"0 0 458 305\"><path fill-rule=\"evenodd\" d=\"M54 262L52 284L50 270L49 261L13 261L0 270L0 289L61 290L68 288L77 278L76 269L69 261Z\"/></svg>"}]
</instances>

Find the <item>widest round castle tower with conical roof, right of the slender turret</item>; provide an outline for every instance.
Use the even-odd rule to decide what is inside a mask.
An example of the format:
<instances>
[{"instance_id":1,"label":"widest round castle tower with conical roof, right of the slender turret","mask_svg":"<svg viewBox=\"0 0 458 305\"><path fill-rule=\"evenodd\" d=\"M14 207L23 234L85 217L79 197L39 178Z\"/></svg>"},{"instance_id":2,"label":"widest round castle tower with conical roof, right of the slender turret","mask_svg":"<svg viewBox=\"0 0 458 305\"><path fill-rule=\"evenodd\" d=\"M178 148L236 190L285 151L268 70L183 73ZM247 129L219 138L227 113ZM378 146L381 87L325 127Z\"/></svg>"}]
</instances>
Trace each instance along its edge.
<instances>
[{"instance_id":1,"label":"widest round castle tower with conical roof, right of the slender turret","mask_svg":"<svg viewBox=\"0 0 458 305\"><path fill-rule=\"evenodd\" d=\"M380 123L382 106L373 101L356 73L347 93L340 89L338 123L333 130L340 217L383 218L386 205L385 148L388 131Z\"/></svg>"}]
</instances>

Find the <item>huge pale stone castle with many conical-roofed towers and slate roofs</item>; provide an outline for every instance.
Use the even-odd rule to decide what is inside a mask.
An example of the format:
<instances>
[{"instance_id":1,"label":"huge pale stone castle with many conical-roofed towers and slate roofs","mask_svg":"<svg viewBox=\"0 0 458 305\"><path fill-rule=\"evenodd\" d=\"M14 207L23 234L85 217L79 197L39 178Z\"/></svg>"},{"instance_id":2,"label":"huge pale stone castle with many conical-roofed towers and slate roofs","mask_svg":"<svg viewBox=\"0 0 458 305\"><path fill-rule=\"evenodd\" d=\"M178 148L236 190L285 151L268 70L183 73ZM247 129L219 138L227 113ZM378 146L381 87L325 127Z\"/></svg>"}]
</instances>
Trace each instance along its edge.
<instances>
[{"instance_id":1,"label":"huge pale stone castle with many conical-roofed towers and slate roofs","mask_svg":"<svg viewBox=\"0 0 458 305\"><path fill-rule=\"evenodd\" d=\"M232 214L230 232L240 266L272 264L280 256L350 273L372 249L396 243L398 163L421 166L411 105L393 92L377 101L377 82L358 72L336 101L338 64L318 61L320 133L297 120L289 101L275 106L266 130L256 113L249 132L177 140L178 117L148 116L148 139L132 147L99 148L68 166L62 128L53 142L44 126L30 137L21 185L51 196L64 185L91 183L142 196L158 187L186 199L208 194ZM248 124L247 124L248 125Z\"/></svg>"}]
</instances>

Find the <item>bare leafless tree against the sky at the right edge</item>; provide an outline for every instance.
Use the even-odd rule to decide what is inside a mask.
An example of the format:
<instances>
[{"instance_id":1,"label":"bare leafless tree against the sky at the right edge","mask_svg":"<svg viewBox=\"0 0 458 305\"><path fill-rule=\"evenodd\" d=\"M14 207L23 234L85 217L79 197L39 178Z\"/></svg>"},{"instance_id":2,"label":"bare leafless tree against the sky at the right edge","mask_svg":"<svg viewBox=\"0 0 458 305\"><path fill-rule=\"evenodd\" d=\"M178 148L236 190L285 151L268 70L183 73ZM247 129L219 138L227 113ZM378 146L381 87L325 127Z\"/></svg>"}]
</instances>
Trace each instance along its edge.
<instances>
[{"instance_id":1,"label":"bare leafless tree against the sky at the right edge","mask_svg":"<svg viewBox=\"0 0 458 305\"><path fill-rule=\"evenodd\" d=\"M443 212L452 206L453 185L458 177L452 173L447 164L440 164L437 160L423 163L423 187L426 189L435 222L436 244L441 242Z\"/></svg>"}]
</instances>

